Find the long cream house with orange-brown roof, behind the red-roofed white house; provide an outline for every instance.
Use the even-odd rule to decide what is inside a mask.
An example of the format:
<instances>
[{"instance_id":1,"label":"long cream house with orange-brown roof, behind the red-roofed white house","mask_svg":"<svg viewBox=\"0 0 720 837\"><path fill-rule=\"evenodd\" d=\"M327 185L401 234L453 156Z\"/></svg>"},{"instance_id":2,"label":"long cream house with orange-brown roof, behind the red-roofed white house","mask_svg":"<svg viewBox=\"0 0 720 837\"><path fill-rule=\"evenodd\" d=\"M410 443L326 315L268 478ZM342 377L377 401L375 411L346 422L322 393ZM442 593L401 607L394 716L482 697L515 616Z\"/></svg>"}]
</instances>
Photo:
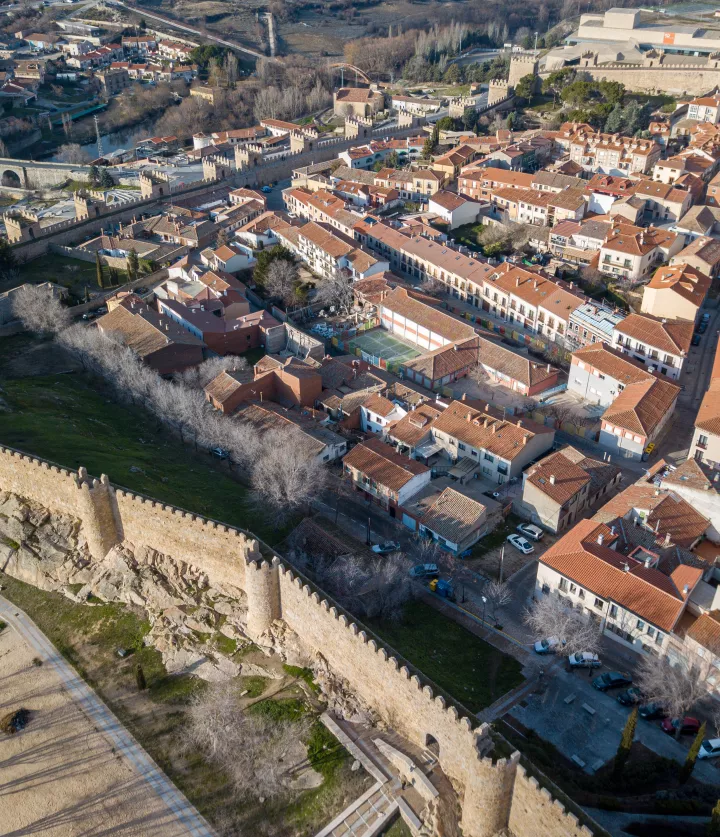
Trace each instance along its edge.
<instances>
[{"instance_id":1,"label":"long cream house with orange-brown roof, behind the red-roofed white house","mask_svg":"<svg viewBox=\"0 0 720 837\"><path fill-rule=\"evenodd\" d=\"M454 460L477 463L484 479L499 485L519 477L534 459L550 450L555 431L535 422L505 421L489 408L451 402L433 422L433 440Z\"/></svg>"}]
</instances>

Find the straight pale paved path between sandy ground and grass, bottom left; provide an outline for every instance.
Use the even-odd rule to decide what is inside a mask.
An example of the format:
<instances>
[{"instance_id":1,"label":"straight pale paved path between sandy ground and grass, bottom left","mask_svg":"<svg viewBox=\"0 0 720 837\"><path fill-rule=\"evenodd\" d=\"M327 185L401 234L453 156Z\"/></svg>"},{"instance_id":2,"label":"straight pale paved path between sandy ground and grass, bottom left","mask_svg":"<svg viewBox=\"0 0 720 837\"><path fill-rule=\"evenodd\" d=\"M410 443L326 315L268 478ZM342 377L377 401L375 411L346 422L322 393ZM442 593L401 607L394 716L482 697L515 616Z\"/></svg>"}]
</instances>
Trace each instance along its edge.
<instances>
[{"instance_id":1,"label":"straight pale paved path between sandy ground and grass, bottom left","mask_svg":"<svg viewBox=\"0 0 720 837\"><path fill-rule=\"evenodd\" d=\"M0 596L0 618L16 630L37 652L43 662L51 665L63 686L98 730L110 739L115 750L133 765L138 774L175 814L193 837L215 837L205 818L178 791L150 756L135 741L95 692L78 676L75 669L57 652L35 623L12 602Z\"/></svg>"}]
</instances>

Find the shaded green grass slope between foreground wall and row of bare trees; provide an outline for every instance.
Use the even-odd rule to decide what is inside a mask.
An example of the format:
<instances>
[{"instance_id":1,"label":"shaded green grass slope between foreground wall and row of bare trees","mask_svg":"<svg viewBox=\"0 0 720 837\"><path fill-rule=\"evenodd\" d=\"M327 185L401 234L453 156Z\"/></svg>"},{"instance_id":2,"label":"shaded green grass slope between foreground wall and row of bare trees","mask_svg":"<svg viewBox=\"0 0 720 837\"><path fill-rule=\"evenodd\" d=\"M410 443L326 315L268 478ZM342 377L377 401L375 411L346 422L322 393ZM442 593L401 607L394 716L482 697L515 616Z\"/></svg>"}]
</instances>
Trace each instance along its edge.
<instances>
[{"instance_id":1,"label":"shaded green grass slope between foreground wall and row of bare trees","mask_svg":"<svg viewBox=\"0 0 720 837\"><path fill-rule=\"evenodd\" d=\"M0 392L10 406L0 413L0 443L67 468L84 465L94 476L249 529L271 545L289 531L253 511L248 490L223 465L182 445L144 410L117 403L82 372L7 378Z\"/></svg>"}]
</instances>

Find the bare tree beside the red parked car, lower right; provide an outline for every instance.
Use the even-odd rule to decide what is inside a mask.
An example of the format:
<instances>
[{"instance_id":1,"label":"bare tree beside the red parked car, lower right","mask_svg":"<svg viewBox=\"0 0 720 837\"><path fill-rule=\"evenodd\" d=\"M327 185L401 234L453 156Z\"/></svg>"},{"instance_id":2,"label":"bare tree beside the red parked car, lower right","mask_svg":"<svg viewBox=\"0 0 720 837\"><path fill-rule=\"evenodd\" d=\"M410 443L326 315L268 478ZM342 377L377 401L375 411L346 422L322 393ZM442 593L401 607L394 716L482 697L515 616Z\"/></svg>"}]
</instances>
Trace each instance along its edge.
<instances>
[{"instance_id":1,"label":"bare tree beside the red parked car, lower right","mask_svg":"<svg viewBox=\"0 0 720 837\"><path fill-rule=\"evenodd\" d=\"M645 700L659 703L673 718L685 715L707 695L707 680L697 666L677 662L672 665L667 657L646 654L636 669L635 682ZM679 738L681 725L675 730Z\"/></svg>"}]
</instances>

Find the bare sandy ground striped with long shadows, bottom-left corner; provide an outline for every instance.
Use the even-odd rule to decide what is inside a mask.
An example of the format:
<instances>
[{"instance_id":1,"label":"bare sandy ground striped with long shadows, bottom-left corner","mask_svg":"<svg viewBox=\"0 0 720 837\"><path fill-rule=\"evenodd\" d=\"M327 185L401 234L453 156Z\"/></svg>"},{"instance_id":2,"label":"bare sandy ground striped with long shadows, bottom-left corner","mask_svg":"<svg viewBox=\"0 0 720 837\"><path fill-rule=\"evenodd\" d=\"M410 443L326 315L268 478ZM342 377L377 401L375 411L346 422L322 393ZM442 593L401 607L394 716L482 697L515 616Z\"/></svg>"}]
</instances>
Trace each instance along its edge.
<instances>
[{"instance_id":1,"label":"bare sandy ground striped with long shadows, bottom-left corner","mask_svg":"<svg viewBox=\"0 0 720 837\"><path fill-rule=\"evenodd\" d=\"M0 632L0 717L25 708L28 726L0 733L0 832L43 837L186 837L190 832L80 711L49 665L10 627Z\"/></svg>"}]
</instances>

